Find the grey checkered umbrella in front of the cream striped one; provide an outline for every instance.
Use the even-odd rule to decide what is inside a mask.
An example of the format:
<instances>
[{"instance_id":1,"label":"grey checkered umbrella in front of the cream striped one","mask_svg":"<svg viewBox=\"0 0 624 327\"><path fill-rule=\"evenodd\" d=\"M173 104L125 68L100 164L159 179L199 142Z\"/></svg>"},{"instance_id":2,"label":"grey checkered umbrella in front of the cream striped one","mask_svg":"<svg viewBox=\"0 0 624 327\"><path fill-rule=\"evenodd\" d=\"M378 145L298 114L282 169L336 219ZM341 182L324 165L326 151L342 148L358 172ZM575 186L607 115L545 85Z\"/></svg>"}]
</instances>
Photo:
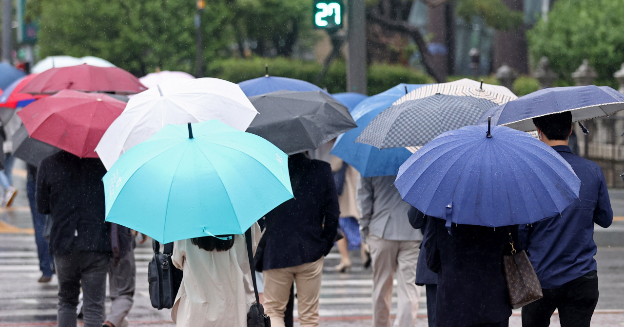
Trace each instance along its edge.
<instances>
[{"instance_id":1,"label":"grey checkered umbrella in front of the cream striped one","mask_svg":"<svg viewBox=\"0 0 624 327\"><path fill-rule=\"evenodd\" d=\"M381 111L355 141L379 149L423 146L445 131L474 125L495 106L489 100L458 95L408 100Z\"/></svg>"}]
</instances>

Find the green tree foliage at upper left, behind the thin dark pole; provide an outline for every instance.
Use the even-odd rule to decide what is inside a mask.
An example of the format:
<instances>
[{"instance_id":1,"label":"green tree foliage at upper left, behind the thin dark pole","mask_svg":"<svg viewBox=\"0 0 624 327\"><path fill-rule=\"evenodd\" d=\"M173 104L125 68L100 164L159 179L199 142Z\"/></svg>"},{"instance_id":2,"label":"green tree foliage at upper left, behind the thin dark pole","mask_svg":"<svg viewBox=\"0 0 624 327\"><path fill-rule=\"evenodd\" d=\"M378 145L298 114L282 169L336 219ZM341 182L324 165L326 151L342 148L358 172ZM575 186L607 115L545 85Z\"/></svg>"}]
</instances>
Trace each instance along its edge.
<instances>
[{"instance_id":1,"label":"green tree foliage at upper left, behind the thin dark pole","mask_svg":"<svg viewBox=\"0 0 624 327\"><path fill-rule=\"evenodd\" d=\"M194 1L37 0L29 2L29 14L40 18L41 57L95 55L139 76L155 67L195 70ZM231 16L225 0L207 3L205 58L227 46Z\"/></svg>"}]
</instances>

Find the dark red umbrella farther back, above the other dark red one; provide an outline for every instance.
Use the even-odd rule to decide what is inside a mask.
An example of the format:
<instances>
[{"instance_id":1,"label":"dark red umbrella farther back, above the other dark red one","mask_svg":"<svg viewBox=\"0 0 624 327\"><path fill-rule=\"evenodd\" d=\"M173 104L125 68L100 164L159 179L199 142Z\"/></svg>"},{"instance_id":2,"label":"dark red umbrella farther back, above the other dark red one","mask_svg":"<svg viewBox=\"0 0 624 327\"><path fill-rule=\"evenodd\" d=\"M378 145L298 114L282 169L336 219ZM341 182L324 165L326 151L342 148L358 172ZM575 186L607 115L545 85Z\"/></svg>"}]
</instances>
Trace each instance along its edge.
<instances>
[{"instance_id":1,"label":"dark red umbrella farther back, above the other dark red one","mask_svg":"<svg viewBox=\"0 0 624 327\"><path fill-rule=\"evenodd\" d=\"M147 90L131 73L119 67L87 64L46 70L32 78L22 93L53 94L61 90L135 94Z\"/></svg>"}]
</instances>

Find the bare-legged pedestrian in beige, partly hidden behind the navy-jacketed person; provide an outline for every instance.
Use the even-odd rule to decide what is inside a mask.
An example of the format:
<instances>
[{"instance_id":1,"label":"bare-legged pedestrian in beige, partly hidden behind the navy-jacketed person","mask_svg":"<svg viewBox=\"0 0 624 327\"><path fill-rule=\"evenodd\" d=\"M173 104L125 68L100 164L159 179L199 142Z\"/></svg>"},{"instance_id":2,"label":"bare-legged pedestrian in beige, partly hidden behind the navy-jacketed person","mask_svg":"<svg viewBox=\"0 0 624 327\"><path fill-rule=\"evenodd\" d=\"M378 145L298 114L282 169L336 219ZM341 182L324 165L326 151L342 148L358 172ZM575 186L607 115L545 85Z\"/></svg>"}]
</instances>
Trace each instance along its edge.
<instances>
[{"instance_id":1,"label":"bare-legged pedestrian in beige, partly hidden behind the navy-jacketed person","mask_svg":"<svg viewBox=\"0 0 624 327\"><path fill-rule=\"evenodd\" d=\"M332 142L333 143L333 142ZM359 211L356 203L359 173L337 156L329 158L331 171L336 182L338 203L340 206L339 228L344 237L336 242L340 254L340 263L334 267L336 272L351 270L349 251L359 249L362 239L359 235Z\"/></svg>"}]
</instances>

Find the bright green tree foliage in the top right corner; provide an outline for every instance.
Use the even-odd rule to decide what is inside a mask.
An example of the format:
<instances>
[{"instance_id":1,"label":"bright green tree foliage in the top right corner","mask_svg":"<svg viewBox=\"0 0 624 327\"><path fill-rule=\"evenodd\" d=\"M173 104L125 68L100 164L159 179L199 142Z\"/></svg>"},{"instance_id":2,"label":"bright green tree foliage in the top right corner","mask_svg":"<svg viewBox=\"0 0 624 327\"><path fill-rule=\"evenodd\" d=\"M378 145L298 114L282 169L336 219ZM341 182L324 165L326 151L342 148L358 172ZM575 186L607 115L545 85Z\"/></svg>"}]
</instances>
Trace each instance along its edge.
<instances>
[{"instance_id":1,"label":"bright green tree foliage in the top right corner","mask_svg":"<svg viewBox=\"0 0 624 327\"><path fill-rule=\"evenodd\" d=\"M527 33L534 62L542 56L550 67L572 83L583 59L598 73L598 80L613 80L624 62L624 0L558 0L548 14Z\"/></svg>"}]
</instances>

